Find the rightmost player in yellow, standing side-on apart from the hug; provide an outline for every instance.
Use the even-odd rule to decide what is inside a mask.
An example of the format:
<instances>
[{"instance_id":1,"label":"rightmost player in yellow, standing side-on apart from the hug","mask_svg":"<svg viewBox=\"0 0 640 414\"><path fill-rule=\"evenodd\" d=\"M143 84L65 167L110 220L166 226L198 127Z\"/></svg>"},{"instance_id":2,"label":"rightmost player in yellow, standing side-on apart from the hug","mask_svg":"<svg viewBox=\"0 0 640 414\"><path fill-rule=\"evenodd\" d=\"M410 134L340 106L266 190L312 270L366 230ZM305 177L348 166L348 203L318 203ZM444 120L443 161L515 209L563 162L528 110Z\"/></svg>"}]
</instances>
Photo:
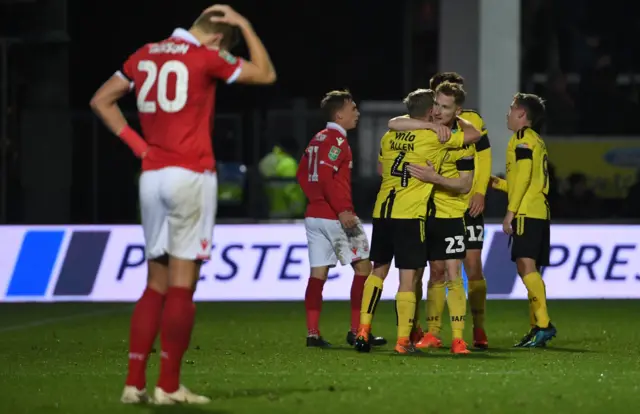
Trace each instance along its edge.
<instances>
[{"instance_id":1,"label":"rightmost player in yellow, standing side-on apart from the hug","mask_svg":"<svg viewBox=\"0 0 640 414\"><path fill-rule=\"evenodd\" d=\"M544 113L540 97L518 93L507 114L507 127L513 135L507 146L509 204L502 228L513 238L511 260L516 262L529 297L531 330L515 345L525 348L544 346L556 336L540 274L541 267L549 265L551 251L548 154L537 132ZM493 186L504 189L504 180L494 179Z\"/></svg>"}]
</instances>

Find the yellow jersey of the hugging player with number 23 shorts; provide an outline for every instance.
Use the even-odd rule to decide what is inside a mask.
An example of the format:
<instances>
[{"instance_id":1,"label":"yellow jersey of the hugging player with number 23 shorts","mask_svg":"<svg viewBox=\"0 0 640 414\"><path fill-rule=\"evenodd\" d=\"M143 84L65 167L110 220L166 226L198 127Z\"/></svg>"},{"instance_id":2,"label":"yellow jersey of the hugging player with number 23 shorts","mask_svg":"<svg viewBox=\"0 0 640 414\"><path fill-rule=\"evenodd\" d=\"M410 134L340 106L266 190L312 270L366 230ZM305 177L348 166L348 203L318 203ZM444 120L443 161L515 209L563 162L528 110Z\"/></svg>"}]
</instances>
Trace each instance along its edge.
<instances>
[{"instance_id":1,"label":"yellow jersey of the hugging player with number 23 shorts","mask_svg":"<svg viewBox=\"0 0 640 414\"><path fill-rule=\"evenodd\" d=\"M473 145L465 145L462 148L447 151L439 174L445 178L457 178L460 176L460 172L473 172L475 153ZM429 203L429 215L437 218L464 217L464 213L469 208L467 194L449 191L436 185L432 202Z\"/></svg>"}]
</instances>

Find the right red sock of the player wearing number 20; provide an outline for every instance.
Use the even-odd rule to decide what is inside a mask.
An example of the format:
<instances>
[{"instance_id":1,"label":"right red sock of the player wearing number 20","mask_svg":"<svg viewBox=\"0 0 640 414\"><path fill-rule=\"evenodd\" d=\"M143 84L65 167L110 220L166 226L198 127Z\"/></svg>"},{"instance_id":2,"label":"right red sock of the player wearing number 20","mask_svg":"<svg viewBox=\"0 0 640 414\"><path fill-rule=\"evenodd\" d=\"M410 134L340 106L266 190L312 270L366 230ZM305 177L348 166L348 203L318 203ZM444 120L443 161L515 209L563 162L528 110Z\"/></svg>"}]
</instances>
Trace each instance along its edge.
<instances>
[{"instance_id":1,"label":"right red sock of the player wearing number 20","mask_svg":"<svg viewBox=\"0 0 640 414\"><path fill-rule=\"evenodd\" d=\"M162 354L158 379L158 387L167 393L177 391L180 386L180 366L189 348L194 319L193 290L170 287L162 312Z\"/></svg>"}]
</instances>

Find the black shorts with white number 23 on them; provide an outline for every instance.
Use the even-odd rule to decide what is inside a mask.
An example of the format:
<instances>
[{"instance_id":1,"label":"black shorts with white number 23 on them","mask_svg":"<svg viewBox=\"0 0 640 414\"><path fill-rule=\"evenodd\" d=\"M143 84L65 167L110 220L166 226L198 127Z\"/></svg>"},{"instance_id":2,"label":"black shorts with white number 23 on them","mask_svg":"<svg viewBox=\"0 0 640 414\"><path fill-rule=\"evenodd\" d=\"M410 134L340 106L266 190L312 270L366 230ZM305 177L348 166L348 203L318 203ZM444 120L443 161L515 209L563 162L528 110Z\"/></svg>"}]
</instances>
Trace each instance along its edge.
<instances>
[{"instance_id":1,"label":"black shorts with white number 23 on them","mask_svg":"<svg viewBox=\"0 0 640 414\"><path fill-rule=\"evenodd\" d=\"M464 219L427 218L427 259L464 259L465 246Z\"/></svg>"}]
</instances>

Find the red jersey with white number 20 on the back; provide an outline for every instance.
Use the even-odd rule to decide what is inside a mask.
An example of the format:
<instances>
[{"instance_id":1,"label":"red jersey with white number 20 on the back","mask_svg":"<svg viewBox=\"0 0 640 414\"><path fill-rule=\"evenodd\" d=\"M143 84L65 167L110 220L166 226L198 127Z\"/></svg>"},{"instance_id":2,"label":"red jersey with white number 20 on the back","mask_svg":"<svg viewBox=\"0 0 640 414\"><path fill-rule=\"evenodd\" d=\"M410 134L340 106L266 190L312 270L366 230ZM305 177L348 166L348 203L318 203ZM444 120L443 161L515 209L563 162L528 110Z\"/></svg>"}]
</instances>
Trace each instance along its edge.
<instances>
[{"instance_id":1,"label":"red jersey with white number 20 on the back","mask_svg":"<svg viewBox=\"0 0 640 414\"><path fill-rule=\"evenodd\" d=\"M241 59L201 45L184 29L127 59L117 75L135 87L142 134L149 144L143 170L215 169L211 120L216 83L235 81L241 65Z\"/></svg>"}]
</instances>

